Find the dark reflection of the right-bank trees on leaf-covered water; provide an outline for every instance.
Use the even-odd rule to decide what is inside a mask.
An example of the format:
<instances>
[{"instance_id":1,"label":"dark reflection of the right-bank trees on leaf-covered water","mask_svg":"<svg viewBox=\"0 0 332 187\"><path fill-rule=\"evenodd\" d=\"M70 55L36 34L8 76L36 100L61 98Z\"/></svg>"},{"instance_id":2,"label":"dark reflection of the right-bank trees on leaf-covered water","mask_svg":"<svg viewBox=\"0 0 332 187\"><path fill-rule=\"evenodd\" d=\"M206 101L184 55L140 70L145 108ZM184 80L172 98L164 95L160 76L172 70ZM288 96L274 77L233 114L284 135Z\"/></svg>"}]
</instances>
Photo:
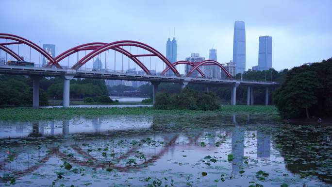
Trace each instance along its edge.
<instances>
[{"instance_id":1,"label":"dark reflection of the right-bank trees on leaf-covered water","mask_svg":"<svg viewBox=\"0 0 332 187\"><path fill-rule=\"evenodd\" d=\"M280 151L286 169L301 176L317 176L332 184L332 127L289 126L280 127L280 132L272 136L274 146Z\"/></svg>"}]
</instances>

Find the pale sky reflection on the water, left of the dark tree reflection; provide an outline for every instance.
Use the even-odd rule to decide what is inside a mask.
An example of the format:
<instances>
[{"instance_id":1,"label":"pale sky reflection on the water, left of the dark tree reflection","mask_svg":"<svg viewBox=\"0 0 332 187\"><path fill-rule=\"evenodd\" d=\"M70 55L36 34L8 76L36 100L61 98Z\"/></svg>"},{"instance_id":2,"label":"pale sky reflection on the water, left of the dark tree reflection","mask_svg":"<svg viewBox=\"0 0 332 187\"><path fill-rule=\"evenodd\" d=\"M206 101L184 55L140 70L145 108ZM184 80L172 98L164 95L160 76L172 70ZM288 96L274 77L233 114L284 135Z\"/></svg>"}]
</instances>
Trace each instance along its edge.
<instances>
[{"instance_id":1,"label":"pale sky reflection on the water, left of the dark tree reflection","mask_svg":"<svg viewBox=\"0 0 332 187\"><path fill-rule=\"evenodd\" d=\"M221 174L225 174L225 182L219 181L217 186L249 186L250 181L264 187L280 187L282 183L328 186L317 177L301 179L286 169L284 157L276 149L273 138L282 129L274 124L276 122L270 116L249 115L210 118L105 116L38 123L2 122L1 137L29 137L2 139L7 148L0 149L4 153L0 155L0 176L23 170L17 186L50 186L57 179L54 171L65 171L60 168L65 158L73 168L83 168L84 175L66 172L56 186L84 186L90 182L89 186L93 187L143 186L156 179L163 181L162 186L165 182L170 186L170 179L176 187L187 186L187 183L198 187L216 186L214 180L220 180ZM23 143L26 140L29 143ZM205 143L204 147L201 142ZM219 147L216 142L220 142ZM111 156L111 153L116 154ZM138 153L144 153L146 163L135 157ZM9 162L11 154L15 158ZM68 157L68 154L73 156ZM227 160L229 154L233 155L232 161ZM204 159L208 155L216 158L216 163ZM135 159L136 167L127 166L129 158ZM117 172L107 172L108 167ZM245 171L242 176L241 170ZM269 173L265 181L255 177L258 170ZM201 176L202 171L207 172L207 176ZM148 177L151 179L146 182L144 179Z\"/></svg>"}]
</instances>

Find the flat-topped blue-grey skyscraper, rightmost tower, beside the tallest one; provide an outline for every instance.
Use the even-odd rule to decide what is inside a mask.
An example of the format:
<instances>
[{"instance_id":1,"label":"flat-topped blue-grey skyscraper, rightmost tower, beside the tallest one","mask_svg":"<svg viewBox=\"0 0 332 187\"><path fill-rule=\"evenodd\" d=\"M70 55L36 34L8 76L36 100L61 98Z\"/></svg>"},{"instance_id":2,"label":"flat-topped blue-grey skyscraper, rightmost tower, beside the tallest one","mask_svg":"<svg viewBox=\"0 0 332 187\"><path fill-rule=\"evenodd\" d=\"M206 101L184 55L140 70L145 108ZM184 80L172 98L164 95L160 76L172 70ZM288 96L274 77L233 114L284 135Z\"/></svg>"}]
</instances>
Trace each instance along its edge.
<instances>
[{"instance_id":1,"label":"flat-topped blue-grey skyscraper, rightmost tower, beside the tallest one","mask_svg":"<svg viewBox=\"0 0 332 187\"><path fill-rule=\"evenodd\" d=\"M272 68L272 37L260 36L258 47L258 70Z\"/></svg>"}]
</instances>

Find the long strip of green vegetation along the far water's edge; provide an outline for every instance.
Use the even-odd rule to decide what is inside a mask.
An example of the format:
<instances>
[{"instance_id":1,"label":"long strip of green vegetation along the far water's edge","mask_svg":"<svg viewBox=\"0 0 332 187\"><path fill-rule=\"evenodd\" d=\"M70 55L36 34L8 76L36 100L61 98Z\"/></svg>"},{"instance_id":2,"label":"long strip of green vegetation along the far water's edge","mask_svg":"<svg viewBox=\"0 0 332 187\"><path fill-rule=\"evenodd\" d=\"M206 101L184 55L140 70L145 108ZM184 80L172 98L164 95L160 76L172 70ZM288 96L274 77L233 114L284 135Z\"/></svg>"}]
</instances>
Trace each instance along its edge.
<instances>
[{"instance_id":1,"label":"long strip of green vegetation along the far water's edge","mask_svg":"<svg viewBox=\"0 0 332 187\"><path fill-rule=\"evenodd\" d=\"M278 114L275 106L222 106L216 111L205 110L158 110L152 107L127 108L1 108L0 120L32 121L44 119L71 119L74 117L94 117L101 115L149 115L149 114L219 114L219 113L250 113L250 114Z\"/></svg>"}]
</instances>

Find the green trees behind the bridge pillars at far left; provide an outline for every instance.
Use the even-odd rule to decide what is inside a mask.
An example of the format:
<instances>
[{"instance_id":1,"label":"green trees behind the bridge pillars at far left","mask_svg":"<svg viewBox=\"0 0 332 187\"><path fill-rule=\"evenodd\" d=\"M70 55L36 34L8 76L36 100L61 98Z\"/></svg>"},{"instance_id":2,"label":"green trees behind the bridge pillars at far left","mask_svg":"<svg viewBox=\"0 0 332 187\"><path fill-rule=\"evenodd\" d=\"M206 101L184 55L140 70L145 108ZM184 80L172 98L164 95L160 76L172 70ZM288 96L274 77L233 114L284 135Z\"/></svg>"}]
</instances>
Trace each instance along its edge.
<instances>
[{"instance_id":1,"label":"green trees behind the bridge pillars at far left","mask_svg":"<svg viewBox=\"0 0 332 187\"><path fill-rule=\"evenodd\" d=\"M32 105L33 81L29 76L0 75L0 105ZM48 100L63 99L62 78L42 78L40 80L39 104L48 105ZM104 80L72 79L70 80L70 98L108 96Z\"/></svg>"}]
</instances>

